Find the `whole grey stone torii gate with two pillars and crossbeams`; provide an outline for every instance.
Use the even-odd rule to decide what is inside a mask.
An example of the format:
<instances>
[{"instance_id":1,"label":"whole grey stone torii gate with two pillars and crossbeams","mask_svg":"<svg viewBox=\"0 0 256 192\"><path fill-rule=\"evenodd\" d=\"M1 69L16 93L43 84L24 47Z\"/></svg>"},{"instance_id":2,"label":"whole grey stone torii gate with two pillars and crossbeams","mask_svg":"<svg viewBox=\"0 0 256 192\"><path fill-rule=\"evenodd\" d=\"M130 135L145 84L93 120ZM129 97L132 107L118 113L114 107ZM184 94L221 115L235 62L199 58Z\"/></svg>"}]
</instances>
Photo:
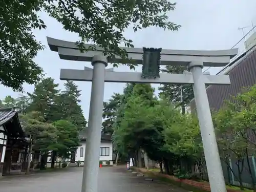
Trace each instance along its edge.
<instances>
[{"instance_id":1,"label":"whole grey stone torii gate with two pillars and crossbeams","mask_svg":"<svg viewBox=\"0 0 256 192\"><path fill-rule=\"evenodd\" d=\"M92 81L82 192L97 192L104 82L193 84L210 188L214 192L226 192L205 84L230 84L230 79L227 75L203 74L202 68L226 66L230 62L230 58L237 55L238 49L221 51L162 50L160 65L187 66L189 71L184 74L160 73L159 78L143 78L141 73L106 70L105 67L109 62L124 63L124 61L118 56L107 59L102 54L103 49L98 46L96 46L96 51L81 53L75 42L50 37L47 37L47 40L50 49L58 52L61 59L91 61L93 66L93 69L84 67L84 70L60 70L61 80ZM89 47L90 45L85 46ZM137 64L142 64L142 49L125 49L129 58L132 58Z\"/></svg>"}]
</instances>

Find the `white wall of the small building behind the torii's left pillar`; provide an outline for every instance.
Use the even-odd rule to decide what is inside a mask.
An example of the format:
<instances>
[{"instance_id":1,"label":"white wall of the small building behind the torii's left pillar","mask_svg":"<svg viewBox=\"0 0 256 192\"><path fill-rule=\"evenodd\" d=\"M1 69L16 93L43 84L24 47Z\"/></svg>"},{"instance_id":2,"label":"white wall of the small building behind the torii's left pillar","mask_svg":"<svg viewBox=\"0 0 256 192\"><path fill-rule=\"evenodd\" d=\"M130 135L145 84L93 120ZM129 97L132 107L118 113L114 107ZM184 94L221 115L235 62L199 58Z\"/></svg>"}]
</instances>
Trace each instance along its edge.
<instances>
[{"instance_id":1,"label":"white wall of the small building behind the torii's left pillar","mask_svg":"<svg viewBox=\"0 0 256 192\"><path fill-rule=\"evenodd\" d=\"M110 150L109 150L109 156L100 156L99 160L102 161L103 164L105 164L105 161L110 161L112 165L113 164L112 162L113 161L113 144L102 142L100 144L100 147L109 147ZM80 154L81 148L83 148L82 154ZM79 146L76 150L76 161L84 161L85 153L86 153L86 142L81 142L81 146ZM100 149L99 149L99 153L100 153Z\"/></svg>"}]
</instances>

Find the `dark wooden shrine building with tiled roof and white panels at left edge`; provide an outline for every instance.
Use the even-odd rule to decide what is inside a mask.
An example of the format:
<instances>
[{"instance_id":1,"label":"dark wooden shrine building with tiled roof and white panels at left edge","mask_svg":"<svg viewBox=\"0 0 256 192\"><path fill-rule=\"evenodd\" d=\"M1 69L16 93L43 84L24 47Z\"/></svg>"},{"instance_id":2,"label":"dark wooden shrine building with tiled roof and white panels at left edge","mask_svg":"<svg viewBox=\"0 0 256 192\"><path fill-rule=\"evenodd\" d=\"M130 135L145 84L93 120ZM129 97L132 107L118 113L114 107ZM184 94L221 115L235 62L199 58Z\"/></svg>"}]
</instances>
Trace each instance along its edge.
<instances>
[{"instance_id":1,"label":"dark wooden shrine building with tiled roof and white panels at left edge","mask_svg":"<svg viewBox=\"0 0 256 192\"><path fill-rule=\"evenodd\" d=\"M0 108L0 176L26 170L28 142L13 108Z\"/></svg>"}]
</instances>

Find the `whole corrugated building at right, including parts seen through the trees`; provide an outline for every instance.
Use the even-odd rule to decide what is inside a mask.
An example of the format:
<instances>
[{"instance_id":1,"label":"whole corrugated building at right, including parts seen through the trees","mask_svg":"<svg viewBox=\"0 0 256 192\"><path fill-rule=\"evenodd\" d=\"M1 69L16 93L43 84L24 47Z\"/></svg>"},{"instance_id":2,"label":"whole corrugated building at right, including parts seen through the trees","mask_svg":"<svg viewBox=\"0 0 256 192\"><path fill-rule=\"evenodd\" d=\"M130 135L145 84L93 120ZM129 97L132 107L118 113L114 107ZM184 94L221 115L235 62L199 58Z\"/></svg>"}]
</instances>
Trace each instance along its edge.
<instances>
[{"instance_id":1,"label":"whole corrugated building at right, including parts seen through the trees","mask_svg":"<svg viewBox=\"0 0 256 192\"><path fill-rule=\"evenodd\" d=\"M218 111L224 105L225 100L230 100L232 96L236 96L241 93L243 88L251 87L256 84L256 34L254 33L247 39L247 50L245 53L238 56L232 62L229 63L222 71L217 75L229 75L231 84L229 85L212 85L207 88L207 96L209 100L210 109L212 111ZM189 103L191 113L196 113L195 100L191 100ZM256 143L256 138L251 132L248 133L251 142ZM233 185L239 186L239 181L234 175L238 176L238 169L236 165L237 159L230 159L230 166L233 170L231 173L226 164L222 164L223 174L226 182L231 176ZM249 157L249 162L252 166L253 172L256 170L256 158ZM247 166L247 165L245 165ZM228 171L227 171L228 170ZM250 187L251 178L248 172L242 173L243 184L246 187Z\"/></svg>"}]
</instances>

